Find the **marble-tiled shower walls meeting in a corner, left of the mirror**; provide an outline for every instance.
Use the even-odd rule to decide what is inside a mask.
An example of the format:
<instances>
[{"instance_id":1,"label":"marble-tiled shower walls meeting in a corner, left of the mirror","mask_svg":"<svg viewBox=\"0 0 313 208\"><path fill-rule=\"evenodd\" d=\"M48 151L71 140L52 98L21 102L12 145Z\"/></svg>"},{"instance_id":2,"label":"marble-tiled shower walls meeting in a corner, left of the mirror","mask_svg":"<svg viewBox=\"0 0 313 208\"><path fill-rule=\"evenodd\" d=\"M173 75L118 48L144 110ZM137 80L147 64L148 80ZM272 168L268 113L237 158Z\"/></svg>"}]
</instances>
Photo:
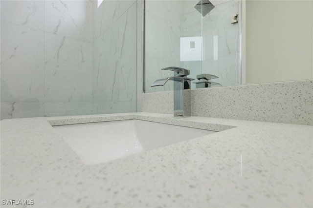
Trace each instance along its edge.
<instances>
[{"instance_id":1,"label":"marble-tiled shower walls meeting in a corner, left of the mirror","mask_svg":"<svg viewBox=\"0 0 313 208\"><path fill-rule=\"evenodd\" d=\"M0 7L1 119L136 111L136 0Z\"/></svg>"}]
</instances>

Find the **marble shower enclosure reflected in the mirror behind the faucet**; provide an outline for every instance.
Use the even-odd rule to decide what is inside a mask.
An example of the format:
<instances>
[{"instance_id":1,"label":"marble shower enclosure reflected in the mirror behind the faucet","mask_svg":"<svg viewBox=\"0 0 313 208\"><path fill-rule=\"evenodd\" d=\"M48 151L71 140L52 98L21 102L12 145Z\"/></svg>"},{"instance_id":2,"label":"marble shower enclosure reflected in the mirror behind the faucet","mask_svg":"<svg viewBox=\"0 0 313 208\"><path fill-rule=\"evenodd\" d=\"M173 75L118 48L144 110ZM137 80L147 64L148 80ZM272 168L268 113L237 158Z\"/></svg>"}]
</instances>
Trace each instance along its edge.
<instances>
[{"instance_id":1,"label":"marble shower enclosure reflected in the mirror behind the faucet","mask_svg":"<svg viewBox=\"0 0 313 208\"><path fill-rule=\"evenodd\" d=\"M241 84L240 13L239 0L146 1L145 92L173 90L170 84L151 87L156 79L172 76L160 70L168 66L189 69L194 79L212 74L223 86Z\"/></svg>"}]
</instances>

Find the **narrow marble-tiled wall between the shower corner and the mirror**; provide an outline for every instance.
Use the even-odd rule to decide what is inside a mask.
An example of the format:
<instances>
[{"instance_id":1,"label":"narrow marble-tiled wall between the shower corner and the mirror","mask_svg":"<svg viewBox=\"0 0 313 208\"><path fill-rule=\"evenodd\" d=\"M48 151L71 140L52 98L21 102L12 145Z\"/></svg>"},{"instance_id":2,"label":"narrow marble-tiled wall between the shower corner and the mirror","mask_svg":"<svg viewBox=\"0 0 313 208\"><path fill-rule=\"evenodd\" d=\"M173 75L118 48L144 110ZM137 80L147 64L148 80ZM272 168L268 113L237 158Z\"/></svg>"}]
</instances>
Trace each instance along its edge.
<instances>
[{"instance_id":1,"label":"narrow marble-tiled wall between the shower corner and the mirror","mask_svg":"<svg viewBox=\"0 0 313 208\"><path fill-rule=\"evenodd\" d=\"M94 3L94 113L136 111L136 10L135 0Z\"/></svg>"}]
</instances>

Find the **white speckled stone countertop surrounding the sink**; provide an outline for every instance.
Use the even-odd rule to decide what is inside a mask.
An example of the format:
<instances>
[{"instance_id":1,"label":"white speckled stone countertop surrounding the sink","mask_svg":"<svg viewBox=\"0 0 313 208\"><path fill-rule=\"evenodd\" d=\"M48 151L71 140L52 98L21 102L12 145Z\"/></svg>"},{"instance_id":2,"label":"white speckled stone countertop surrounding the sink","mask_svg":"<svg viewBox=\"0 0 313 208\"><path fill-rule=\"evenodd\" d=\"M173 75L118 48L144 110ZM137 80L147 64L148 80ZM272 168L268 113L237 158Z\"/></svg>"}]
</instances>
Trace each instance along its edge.
<instances>
[{"instance_id":1,"label":"white speckled stone countertop surrounding the sink","mask_svg":"<svg viewBox=\"0 0 313 208\"><path fill-rule=\"evenodd\" d=\"M224 131L88 166L51 126L123 119ZM153 113L10 119L0 125L1 200L34 200L27 207L313 207L310 125Z\"/></svg>"}]
</instances>

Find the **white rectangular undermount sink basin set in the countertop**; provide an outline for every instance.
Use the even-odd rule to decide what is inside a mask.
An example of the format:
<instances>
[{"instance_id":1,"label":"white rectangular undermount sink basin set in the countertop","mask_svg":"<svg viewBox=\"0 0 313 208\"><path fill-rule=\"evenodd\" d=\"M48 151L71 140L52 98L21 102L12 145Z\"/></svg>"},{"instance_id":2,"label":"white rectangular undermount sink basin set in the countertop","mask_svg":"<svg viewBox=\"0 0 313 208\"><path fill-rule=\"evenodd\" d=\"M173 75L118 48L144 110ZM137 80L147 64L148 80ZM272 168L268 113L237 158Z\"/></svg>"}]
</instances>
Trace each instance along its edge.
<instances>
[{"instance_id":1,"label":"white rectangular undermount sink basin set in the countertop","mask_svg":"<svg viewBox=\"0 0 313 208\"><path fill-rule=\"evenodd\" d=\"M215 131L141 120L53 126L87 165L100 164Z\"/></svg>"}]
</instances>

